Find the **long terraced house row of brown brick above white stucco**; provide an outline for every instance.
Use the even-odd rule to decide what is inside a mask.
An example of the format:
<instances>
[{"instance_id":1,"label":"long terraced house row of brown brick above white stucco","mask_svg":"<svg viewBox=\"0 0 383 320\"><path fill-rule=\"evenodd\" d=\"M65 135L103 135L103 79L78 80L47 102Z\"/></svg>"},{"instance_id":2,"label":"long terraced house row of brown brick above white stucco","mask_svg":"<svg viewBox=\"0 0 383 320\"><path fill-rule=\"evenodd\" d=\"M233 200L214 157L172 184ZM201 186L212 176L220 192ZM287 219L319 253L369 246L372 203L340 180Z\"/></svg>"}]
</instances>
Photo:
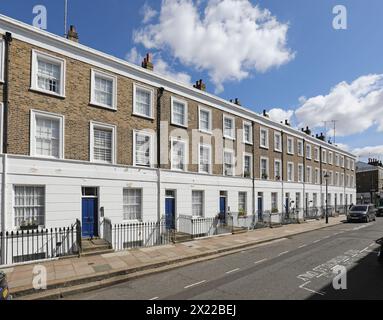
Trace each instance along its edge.
<instances>
[{"instance_id":1,"label":"long terraced house row of brown brick above white stucco","mask_svg":"<svg viewBox=\"0 0 383 320\"><path fill-rule=\"evenodd\" d=\"M337 207L355 156L143 65L0 16L1 223L69 226ZM153 70L154 67L154 70ZM326 176L327 176L326 175Z\"/></svg>"}]
</instances>

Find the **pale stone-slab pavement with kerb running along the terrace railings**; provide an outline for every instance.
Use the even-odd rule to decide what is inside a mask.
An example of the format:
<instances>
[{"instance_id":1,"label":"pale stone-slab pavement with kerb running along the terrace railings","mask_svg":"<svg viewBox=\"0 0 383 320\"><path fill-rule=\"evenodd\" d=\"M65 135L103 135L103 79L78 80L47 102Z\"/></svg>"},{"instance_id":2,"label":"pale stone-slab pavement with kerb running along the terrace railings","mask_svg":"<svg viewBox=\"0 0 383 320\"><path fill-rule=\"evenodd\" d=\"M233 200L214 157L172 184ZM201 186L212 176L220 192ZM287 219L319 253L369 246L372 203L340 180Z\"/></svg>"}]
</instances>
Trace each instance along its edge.
<instances>
[{"instance_id":1,"label":"pale stone-slab pavement with kerb running along the terrace railings","mask_svg":"<svg viewBox=\"0 0 383 320\"><path fill-rule=\"evenodd\" d=\"M329 226L342 225L344 217L280 228L267 228L236 235L198 239L159 247L140 248L97 256L69 258L20 265L3 269L9 288L17 299L50 299L104 288L153 273L164 272L188 264L235 254L262 243L289 238ZM46 273L46 289L36 290L41 275Z\"/></svg>"}]
</instances>

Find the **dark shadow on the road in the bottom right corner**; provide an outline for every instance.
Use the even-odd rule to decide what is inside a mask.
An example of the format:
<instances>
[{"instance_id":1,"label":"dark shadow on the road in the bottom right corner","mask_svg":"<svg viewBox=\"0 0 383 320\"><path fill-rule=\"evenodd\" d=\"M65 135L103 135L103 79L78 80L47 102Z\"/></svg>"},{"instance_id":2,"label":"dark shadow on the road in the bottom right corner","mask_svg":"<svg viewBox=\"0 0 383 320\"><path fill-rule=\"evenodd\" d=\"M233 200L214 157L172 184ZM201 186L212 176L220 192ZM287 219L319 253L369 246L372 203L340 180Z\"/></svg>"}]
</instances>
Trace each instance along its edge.
<instances>
[{"instance_id":1,"label":"dark shadow on the road in the bottom right corner","mask_svg":"<svg viewBox=\"0 0 383 320\"><path fill-rule=\"evenodd\" d=\"M335 275L334 275L335 276ZM335 290L332 283L307 300L383 300L383 263L371 252L347 272L347 290Z\"/></svg>"}]
</instances>

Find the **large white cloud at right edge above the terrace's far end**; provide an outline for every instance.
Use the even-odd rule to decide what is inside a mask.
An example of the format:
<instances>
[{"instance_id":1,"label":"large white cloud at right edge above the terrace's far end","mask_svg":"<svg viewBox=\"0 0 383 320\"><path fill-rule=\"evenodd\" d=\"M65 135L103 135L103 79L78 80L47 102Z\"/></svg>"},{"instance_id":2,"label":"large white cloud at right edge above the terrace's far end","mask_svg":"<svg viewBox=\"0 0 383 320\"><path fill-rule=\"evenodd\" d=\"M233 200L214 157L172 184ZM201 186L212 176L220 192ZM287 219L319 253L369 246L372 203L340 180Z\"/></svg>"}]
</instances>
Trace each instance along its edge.
<instances>
[{"instance_id":1,"label":"large white cloud at right edge above the terrace's far end","mask_svg":"<svg viewBox=\"0 0 383 320\"><path fill-rule=\"evenodd\" d=\"M341 82L327 95L301 101L295 111L299 126L320 128L323 121L337 120L337 136L362 133L374 125L383 132L383 74Z\"/></svg>"}]
</instances>

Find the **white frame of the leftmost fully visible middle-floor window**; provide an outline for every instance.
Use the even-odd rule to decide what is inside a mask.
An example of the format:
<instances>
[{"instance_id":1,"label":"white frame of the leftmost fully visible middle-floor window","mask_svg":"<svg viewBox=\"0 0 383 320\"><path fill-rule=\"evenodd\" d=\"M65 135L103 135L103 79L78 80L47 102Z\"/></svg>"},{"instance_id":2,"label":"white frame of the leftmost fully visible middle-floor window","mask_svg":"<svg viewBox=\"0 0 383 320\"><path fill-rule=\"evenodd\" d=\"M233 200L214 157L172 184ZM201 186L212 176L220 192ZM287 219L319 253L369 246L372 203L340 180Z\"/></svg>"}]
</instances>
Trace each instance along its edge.
<instances>
[{"instance_id":1,"label":"white frame of the leftmost fully visible middle-floor window","mask_svg":"<svg viewBox=\"0 0 383 320\"><path fill-rule=\"evenodd\" d=\"M3 113L2 113L3 115ZM36 116L41 116L48 119L58 120L60 123L60 143L59 143L59 156L58 157L49 157L41 156L36 154ZM2 116L3 118L3 116ZM65 145L65 117L61 114L40 111L40 110L31 110L30 116L30 128L31 132L29 134L29 150L32 157L38 158L48 158L48 159L64 159L64 145ZM2 131L3 132L3 131ZM1 133L2 135L2 133Z\"/></svg>"}]
</instances>

